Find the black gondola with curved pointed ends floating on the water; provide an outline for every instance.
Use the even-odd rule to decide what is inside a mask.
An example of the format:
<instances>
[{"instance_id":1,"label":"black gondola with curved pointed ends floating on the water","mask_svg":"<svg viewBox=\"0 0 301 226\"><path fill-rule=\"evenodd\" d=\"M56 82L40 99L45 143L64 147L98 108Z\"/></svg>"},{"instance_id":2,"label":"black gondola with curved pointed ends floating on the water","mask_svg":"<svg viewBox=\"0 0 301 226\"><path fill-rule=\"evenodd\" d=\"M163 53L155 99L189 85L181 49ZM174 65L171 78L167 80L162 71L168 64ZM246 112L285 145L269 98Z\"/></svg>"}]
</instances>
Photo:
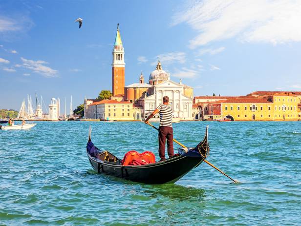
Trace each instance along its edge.
<instances>
[{"instance_id":1,"label":"black gondola with curved pointed ends floating on the water","mask_svg":"<svg viewBox=\"0 0 301 226\"><path fill-rule=\"evenodd\" d=\"M86 153L98 173L113 175L129 181L160 185L174 183L201 164L209 154L208 126L203 141L194 148L178 148L178 155L165 161L144 165L123 165L122 160L106 150L98 149L89 132ZM113 162L111 162L113 160Z\"/></svg>"}]
</instances>

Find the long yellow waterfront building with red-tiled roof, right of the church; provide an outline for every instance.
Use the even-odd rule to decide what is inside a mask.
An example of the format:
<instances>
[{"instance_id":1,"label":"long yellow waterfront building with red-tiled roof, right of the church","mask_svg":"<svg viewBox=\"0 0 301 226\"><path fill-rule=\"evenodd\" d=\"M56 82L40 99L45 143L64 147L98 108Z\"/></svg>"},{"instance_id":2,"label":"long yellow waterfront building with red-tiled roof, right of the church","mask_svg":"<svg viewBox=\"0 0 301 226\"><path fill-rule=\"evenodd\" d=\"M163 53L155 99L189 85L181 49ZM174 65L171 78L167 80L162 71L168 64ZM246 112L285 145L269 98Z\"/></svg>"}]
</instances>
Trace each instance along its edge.
<instances>
[{"instance_id":1,"label":"long yellow waterfront building with red-tiled roof, right of the church","mask_svg":"<svg viewBox=\"0 0 301 226\"><path fill-rule=\"evenodd\" d=\"M298 103L299 98L290 93L276 93L261 98L245 96L209 103L206 113L234 121L296 121Z\"/></svg>"}]
</instances>

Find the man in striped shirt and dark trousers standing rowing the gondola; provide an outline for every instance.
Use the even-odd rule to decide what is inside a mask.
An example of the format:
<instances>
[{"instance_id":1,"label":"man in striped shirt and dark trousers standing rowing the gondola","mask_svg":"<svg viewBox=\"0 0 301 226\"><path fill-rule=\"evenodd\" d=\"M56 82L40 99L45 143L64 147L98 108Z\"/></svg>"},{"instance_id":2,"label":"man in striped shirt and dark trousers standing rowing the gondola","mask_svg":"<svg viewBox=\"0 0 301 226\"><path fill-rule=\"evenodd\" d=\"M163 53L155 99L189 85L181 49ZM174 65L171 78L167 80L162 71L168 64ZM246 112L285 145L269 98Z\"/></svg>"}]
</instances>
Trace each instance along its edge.
<instances>
[{"instance_id":1,"label":"man in striped shirt and dark trousers standing rowing the gondola","mask_svg":"<svg viewBox=\"0 0 301 226\"><path fill-rule=\"evenodd\" d=\"M159 156L160 161L165 161L165 143L167 140L167 153L169 157L173 156L173 131L172 131L172 107L169 104L169 97L163 97L163 104L159 105L156 110L154 110L151 115L145 120L148 124L149 120L155 115L160 114L160 124L159 124Z\"/></svg>"}]
</instances>

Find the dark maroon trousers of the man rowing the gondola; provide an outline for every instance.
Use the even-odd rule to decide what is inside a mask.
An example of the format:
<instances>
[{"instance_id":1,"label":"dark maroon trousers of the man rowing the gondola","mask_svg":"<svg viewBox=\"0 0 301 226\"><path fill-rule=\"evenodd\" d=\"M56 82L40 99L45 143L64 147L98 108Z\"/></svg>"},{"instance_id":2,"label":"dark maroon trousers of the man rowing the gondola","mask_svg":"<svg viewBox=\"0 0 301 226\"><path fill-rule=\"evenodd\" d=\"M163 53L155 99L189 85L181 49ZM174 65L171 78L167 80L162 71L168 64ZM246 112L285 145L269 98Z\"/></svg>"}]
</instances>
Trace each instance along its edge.
<instances>
[{"instance_id":1,"label":"dark maroon trousers of the man rowing the gondola","mask_svg":"<svg viewBox=\"0 0 301 226\"><path fill-rule=\"evenodd\" d=\"M165 160L165 142L167 139L167 153L169 157L173 156L173 132L170 126L159 127L159 156Z\"/></svg>"}]
</instances>

